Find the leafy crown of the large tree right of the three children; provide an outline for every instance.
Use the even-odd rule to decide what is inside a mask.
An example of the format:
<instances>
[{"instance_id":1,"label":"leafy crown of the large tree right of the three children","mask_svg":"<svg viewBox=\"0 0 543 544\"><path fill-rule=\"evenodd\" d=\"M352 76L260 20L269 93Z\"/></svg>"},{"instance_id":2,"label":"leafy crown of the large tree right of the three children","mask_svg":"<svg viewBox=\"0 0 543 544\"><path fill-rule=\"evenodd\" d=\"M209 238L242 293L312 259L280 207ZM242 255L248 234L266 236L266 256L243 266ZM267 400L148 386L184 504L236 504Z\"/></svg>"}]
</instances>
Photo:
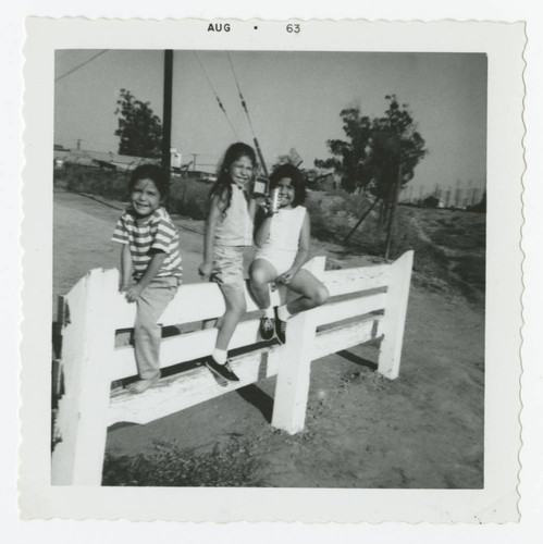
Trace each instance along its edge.
<instances>
[{"instance_id":1,"label":"leafy crown of the large tree right of the three children","mask_svg":"<svg viewBox=\"0 0 543 544\"><path fill-rule=\"evenodd\" d=\"M428 151L407 104L399 104L396 95L385 98L388 108L381 118L361 115L359 108L342 110L347 139L328 140L332 157L317 159L314 165L333 168L346 190L369 189L390 200L398 175L402 186L408 183Z\"/></svg>"}]
</instances>

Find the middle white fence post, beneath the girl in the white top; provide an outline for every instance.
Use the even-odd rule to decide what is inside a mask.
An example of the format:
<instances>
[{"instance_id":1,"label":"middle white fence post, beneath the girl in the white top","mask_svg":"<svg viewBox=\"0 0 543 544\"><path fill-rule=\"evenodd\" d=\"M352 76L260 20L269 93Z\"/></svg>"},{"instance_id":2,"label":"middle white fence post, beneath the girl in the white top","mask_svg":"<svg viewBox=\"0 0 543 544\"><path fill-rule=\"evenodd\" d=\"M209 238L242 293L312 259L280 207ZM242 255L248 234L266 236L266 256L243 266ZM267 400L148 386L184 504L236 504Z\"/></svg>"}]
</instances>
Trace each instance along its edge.
<instances>
[{"instance_id":1,"label":"middle white fence post, beneath the girl in the white top","mask_svg":"<svg viewBox=\"0 0 543 544\"><path fill-rule=\"evenodd\" d=\"M324 257L316 257L304 268L322 280ZM272 425L295 434L304 429L311 351L316 337L314 313L308 310L288 320L287 341L277 369Z\"/></svg>"}]
</instances>

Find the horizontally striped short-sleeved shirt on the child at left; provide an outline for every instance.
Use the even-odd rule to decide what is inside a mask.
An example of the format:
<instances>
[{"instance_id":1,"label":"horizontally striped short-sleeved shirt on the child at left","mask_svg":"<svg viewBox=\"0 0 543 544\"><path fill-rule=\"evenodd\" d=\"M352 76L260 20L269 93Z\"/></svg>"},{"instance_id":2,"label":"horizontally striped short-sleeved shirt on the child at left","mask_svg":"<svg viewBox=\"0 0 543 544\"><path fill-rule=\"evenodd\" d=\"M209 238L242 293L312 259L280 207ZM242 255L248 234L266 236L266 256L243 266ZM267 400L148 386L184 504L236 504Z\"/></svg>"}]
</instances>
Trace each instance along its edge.
<instances>
[{"instance_id":1,"label":"horizontally striped short-sleeved shirt on the child at left","mask_svg":"<svg viewBox=\"0 0 543 544\"><path fill-rule=\"evenodd\" d=\"M134 265L134 279L139 280L156 252L164 252L156 277L181 277L181 254L177 228L164 208L158 208L151 217L138 225L136 217L127 209L119 219L113 231L113 242L128 244Z\"/></svg>"}]
</instances>

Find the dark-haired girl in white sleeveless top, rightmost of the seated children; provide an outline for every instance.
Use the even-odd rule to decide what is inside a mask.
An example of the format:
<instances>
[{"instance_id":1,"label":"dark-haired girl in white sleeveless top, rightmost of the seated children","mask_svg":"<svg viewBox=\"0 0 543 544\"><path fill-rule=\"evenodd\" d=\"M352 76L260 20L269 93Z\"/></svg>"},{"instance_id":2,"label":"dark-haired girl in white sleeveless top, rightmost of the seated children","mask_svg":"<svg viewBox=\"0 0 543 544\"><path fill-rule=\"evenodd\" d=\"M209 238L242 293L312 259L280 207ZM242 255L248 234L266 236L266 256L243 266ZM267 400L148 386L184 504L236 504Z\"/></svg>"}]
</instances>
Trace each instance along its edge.
<instances>
[{"instance_id":1,"label":"dark-haired girl in white sleeveless top, rightmost of the seated children","mask_svg":"<svg viewBox=\"0 0 543 544\"><path fill-rule=\"evenodd\" d=\"M304 176L292 164L283 164L270 176L270 187L280 188L279 211L259 211L255 243L258 247L249 269L250 288L258 307L263 310L260 335L270 339L275 332L285 342L286 322L300 311L323 305L329 298L326 287L301 267L309 256L310 222L301 206L306 196ZM282 283L300 296L276 308L271 307L270 284Z\"/></svg>"}]
</instances>

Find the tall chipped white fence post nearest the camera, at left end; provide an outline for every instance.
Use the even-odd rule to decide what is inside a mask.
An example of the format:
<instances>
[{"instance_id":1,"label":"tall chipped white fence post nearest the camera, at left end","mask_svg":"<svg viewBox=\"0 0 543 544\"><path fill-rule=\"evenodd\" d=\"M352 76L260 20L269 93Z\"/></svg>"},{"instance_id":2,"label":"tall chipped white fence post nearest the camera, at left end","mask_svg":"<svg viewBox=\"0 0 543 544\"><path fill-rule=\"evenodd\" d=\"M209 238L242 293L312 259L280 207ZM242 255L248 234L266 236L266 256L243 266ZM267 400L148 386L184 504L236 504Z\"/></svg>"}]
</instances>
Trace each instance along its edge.
<instances>
[{"instance_id":1,"label":"tall chipped white fence post nearest the camera, at left end","mask_svg":"<svg viewBox=\"0 0 543 544\"><path fill-rule=\"evenodd\" d=\"M65 394L54 429L53 485L101 484L115 334L108 302L118 282L116 270L91 270L66 296L61 358Z\"/></svg>"}]
</instances>

